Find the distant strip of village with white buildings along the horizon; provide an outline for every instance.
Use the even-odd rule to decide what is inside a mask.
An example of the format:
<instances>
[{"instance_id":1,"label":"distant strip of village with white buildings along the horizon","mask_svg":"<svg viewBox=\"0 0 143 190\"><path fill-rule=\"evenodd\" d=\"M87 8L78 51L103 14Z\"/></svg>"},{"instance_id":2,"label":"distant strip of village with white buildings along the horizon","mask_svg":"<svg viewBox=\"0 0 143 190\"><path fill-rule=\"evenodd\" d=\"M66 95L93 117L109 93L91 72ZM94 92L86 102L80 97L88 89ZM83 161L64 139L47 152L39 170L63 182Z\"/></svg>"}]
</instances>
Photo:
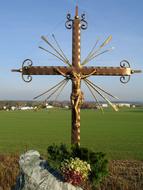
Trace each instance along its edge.
<instances>
[{"instance_id":1,"label":"distant strip of village with white buildings along the horizon","mask_svg":"<svg viewBox=\"0 0 143 190\"><path fill-rule=\"evenodd\" d=\"M143 102L114 102L118 108L143 108ZM96 102L87 101L81 106L81 109L100 108L108 109L110 106L105 102L100 102L100 106ZM50 110L53 108L70 109L70 101L0 101L1 111L17 111L17 110Z\"/></svg>"}]
</instances>

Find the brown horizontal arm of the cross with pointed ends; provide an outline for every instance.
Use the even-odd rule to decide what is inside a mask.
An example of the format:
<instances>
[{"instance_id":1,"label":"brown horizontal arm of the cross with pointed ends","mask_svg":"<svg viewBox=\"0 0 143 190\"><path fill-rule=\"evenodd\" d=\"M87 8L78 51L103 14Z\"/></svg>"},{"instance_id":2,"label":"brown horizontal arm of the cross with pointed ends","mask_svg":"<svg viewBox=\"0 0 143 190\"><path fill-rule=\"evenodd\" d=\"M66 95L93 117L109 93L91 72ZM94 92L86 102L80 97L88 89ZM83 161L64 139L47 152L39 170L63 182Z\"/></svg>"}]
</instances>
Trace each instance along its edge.
<instances>
[{"instance_id":1,"label":"brown horizontal arm of the cross with pointed ends","mask_svg":"<svg viewBox=\"0 0 143 190\"><path fill-rule=\"evenodd\" d=\"M129 76L136 73L136 70L126 67L81 67L78 70L74 67L61 66L25 66L13 72L21 72L23 75L61 75L59 71L65 75L72 75L73 72L81 73L81 75L102 75L102 76Z\"/></svg>"}]
</instances>

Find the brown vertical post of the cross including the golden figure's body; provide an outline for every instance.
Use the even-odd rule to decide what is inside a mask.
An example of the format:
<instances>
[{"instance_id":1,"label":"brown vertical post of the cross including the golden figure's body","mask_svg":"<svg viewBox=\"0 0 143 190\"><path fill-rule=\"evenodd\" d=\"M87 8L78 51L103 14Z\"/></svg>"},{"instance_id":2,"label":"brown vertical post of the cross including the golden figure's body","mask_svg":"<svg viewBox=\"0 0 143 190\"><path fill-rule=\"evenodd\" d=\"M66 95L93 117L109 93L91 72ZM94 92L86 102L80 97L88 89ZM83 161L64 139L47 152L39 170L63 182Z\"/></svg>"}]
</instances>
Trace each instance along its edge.
<instances>
[{"instance_id":1,"label":"brown vertical post of the cross including the golden figure's body","mask_svg":"<svg viewBox=\"0 0 143 190\"><path fill-rule=\"evenodd\" d=\"M72 109L72 128L71 143L80 145L80 106L83 102L83 93L81 91L81 78L78 71L80 65L80 19L78 16L78 7L76 7L75 19L72 25L72 66L73 75L72 93L71 93L71 109Z\"/></svg>"}]
</instances>

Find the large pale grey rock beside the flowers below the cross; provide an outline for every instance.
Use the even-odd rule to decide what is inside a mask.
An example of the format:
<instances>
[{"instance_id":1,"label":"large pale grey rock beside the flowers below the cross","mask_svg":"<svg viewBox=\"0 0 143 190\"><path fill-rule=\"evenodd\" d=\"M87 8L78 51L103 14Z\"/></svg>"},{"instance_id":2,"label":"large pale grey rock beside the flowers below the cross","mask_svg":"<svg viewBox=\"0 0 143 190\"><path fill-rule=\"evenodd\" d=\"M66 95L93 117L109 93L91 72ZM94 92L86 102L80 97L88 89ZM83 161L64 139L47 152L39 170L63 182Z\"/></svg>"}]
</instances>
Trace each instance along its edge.
<instances>
[{"instance_id":1,"label":"large pale grey rock beside the flowers below the cross","mask_svg":"<svg viewBox=\"0 0 143 190\"><path fill-rule=\"evenodd\" d=\"M15 190L82 190L63 181L37 151L30 150L20 156L20 174Z\"/></svg>"}]
</instances>

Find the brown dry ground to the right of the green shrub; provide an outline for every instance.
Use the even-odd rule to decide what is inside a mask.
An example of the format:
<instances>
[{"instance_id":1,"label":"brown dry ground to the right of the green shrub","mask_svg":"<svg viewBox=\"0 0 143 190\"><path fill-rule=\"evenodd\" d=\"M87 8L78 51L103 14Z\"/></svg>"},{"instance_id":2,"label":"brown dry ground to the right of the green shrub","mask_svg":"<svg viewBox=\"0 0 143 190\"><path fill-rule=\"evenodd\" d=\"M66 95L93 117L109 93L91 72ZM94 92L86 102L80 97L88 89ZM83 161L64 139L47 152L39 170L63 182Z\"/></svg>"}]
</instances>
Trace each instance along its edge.
<instances>
[{"instance_id":1,"label":"brown dry ground to the right of the green shrub","mask_svg":"<svg viewBox=\"0 0 143 190\"><path fill-rule=\"evenodd\" d=\"M143 190L143 161L111 161L99 190Z\"/></svg>"}]
</instances>

